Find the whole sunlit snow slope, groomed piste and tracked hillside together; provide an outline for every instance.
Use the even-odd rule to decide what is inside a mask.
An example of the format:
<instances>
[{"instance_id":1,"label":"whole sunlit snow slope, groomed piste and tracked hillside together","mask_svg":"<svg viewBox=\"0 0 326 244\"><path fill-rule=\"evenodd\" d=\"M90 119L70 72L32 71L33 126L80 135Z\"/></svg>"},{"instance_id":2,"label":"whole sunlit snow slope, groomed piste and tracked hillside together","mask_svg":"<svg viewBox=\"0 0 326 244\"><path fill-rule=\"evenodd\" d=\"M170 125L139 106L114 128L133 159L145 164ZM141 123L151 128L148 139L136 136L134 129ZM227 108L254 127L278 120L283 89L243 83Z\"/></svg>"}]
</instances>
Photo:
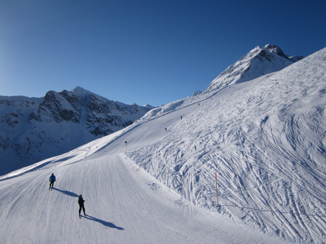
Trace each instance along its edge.
<instances>
[{"instance_id":1,"label":"whole sunlit snow slope, groomed piste and tracked hillside together","mask_svg":"<svg viewBox=\"0 0 326 244\"><path fill-rule=\"evenodd\" d=\"M325 243L325 80L322 49L1 176L0 243Z\"/></svg>"}]
</instances>

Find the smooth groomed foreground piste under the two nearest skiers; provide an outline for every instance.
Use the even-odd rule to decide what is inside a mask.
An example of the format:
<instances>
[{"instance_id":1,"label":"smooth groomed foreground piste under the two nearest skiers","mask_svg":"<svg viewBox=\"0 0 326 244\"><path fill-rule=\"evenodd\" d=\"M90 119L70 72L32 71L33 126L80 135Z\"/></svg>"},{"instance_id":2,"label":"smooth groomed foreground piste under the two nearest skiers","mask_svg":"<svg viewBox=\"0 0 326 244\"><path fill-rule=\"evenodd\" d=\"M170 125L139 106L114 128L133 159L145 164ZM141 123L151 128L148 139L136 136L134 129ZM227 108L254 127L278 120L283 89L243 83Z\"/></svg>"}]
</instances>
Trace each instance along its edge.
<instances>
[{"instance_id":1,"label":"smooth groomed foreground piste under the two nearest skiers","mask_svg":"<svg viewBox=\"0 0 326 244\"><path fill-rule=\"evenodd\" d=\"M49 191L44 178L53 170L57 181ZM123 155L85 159L2 181L0 193L1 243L276 241L259 233L249 235L181 203L176 194ZM83 194L86 208L82 219L78 218L79 194Z\"/></svg>"}]
</instances>

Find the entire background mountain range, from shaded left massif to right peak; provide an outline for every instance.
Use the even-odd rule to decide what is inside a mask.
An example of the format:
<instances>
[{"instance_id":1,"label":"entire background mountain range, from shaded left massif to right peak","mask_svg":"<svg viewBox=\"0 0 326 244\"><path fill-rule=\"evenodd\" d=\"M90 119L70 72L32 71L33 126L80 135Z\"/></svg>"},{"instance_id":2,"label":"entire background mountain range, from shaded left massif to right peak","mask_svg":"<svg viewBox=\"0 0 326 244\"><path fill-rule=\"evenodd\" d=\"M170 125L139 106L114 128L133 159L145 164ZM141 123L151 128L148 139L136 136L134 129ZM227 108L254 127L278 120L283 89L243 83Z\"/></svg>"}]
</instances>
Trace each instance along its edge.
<instances>
[{"instance_id":1,"label":"entire background mountain range, from shaded left massif to right peak","mask_svg":"<svg viewBox=\"0 0 326 244\"><path fill-rule=\"evenodd\" d=\"M60 93L49 91L44 98L0 96L0 174L63 154L121 130L137 119L200 101L207 93L228 85L282 70L302 58L287 56L275 45L257 46L223 71L205 92L197 91L188 99L156 109L114 102L82 87Z\"/></svg>"}]
</instances>

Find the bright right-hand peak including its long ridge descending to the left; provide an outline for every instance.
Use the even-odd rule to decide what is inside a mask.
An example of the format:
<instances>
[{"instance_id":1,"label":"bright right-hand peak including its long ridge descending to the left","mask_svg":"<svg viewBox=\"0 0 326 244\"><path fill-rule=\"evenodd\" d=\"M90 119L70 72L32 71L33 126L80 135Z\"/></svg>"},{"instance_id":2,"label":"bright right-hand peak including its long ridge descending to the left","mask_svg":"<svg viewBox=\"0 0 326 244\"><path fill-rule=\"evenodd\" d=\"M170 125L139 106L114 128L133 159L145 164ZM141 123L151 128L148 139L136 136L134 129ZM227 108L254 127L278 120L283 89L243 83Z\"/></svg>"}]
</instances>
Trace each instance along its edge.
<instances>
[{"instance_id":1,"label":"bright right-hand peak including its long ridge descending to the left","mask_svg":"<svg viewBox=\"0 0 326 244\"><path fill-rule=\"evenodd\" d=\"M284 54L281 48L275 45L267 44L263 48L257 46L211 81L204 92L197 90L192 96L186 99L155 108L148 112L142 119L158 116L192 103L197 103L227 86L230 87L233 84L250 81L280 71L303 58L303 56L288 56Z\"/></svg>"}]
</instances>

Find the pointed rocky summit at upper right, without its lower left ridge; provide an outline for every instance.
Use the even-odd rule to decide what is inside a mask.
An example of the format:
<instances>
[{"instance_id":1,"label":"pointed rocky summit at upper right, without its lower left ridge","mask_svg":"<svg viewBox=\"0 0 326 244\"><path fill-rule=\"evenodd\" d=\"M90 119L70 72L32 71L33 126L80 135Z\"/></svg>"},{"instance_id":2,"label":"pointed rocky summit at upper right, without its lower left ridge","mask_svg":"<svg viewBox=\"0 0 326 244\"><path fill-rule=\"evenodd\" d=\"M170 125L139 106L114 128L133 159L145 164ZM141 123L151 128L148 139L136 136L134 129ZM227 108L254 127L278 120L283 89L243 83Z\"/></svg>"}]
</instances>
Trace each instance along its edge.
<instances>
[{"instance_id":1,"label":"pointed rocky summit at upper right, without its lower left ridge","mask_svg":"<svg viewBox=\"0 0 326 244\"><path fill-rule=\"evenodd\" d=\"M267 44L263 48L257 46L215 78L205 92L280 71L303 58L302 56L287 56L281 48L275 45Z\"/></svg>"}]
</instances>

